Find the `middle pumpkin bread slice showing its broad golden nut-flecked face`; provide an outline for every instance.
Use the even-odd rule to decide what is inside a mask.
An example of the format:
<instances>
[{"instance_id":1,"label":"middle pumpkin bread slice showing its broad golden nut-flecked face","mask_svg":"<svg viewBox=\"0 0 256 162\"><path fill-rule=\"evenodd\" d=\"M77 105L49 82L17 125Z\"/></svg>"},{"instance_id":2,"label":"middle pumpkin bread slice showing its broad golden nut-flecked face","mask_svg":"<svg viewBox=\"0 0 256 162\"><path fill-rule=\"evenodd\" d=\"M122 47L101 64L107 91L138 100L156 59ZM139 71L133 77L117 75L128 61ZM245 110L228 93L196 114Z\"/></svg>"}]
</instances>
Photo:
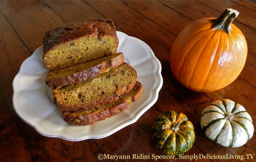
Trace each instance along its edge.
<instances>
[{"instance_id":1,"label":"middle pumpkin bread slice showing its broad golden nut-flecked face","mask_svg":"<svg viewBox=\"0 0 256 162\"><path fill-rule=\"evenodd\" d=\"M124 62L78 84L55 87L53 97L61 111L87 110L116 101L120 95L131 91L136 81L136 70Z\"/></svg>"}]
</instances>

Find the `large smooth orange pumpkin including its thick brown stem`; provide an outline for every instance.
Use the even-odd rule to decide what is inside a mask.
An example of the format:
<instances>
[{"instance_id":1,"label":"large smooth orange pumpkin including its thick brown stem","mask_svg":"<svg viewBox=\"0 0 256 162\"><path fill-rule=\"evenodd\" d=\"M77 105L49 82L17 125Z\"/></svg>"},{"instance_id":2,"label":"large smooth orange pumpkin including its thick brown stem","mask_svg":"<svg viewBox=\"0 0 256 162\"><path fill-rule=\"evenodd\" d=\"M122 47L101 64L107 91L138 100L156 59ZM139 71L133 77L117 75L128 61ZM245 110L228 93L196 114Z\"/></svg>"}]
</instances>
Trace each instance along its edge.
<instances>
[{"instance_id":1,"label":"large smooth orange pumpkin including its thick brown stem","mask_svg":"<svg viewBox=\"0 0 256 162\"><path fill-rule=\"evenodd\" d=\"M247 57L247 43L226 9L218 18L195 20L177 36L170 55L175 78L186 88L212 92L232 83Z\"/></svg>"}]
</instances>

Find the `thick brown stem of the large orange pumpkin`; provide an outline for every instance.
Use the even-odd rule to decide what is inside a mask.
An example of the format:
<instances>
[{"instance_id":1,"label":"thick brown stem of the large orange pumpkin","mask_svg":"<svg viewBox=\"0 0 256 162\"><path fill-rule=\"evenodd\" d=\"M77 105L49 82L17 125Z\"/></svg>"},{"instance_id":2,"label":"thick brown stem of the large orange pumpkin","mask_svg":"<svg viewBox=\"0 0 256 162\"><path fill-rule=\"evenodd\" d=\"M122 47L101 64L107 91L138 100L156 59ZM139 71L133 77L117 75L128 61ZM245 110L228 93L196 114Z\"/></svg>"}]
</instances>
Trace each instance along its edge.
<instances>
[{"instance_id":1,"label":"thick brown stem of the large orange pumpkin","mask_svg":"<svg viewBox=\"0 0 256 162\"><path fill-rule=\"evenodd\" d=\"M233 10L232 8L227 8L221 14L221 16L219 16L217 19L212 20L214 22L214 25L212 28L221 29L225 31L227 34L230 34L230 31L232 30L231 23L233 22L233 20L236 19L238 14L239 14L238 11Z\"/></svg>"}]
</instances>

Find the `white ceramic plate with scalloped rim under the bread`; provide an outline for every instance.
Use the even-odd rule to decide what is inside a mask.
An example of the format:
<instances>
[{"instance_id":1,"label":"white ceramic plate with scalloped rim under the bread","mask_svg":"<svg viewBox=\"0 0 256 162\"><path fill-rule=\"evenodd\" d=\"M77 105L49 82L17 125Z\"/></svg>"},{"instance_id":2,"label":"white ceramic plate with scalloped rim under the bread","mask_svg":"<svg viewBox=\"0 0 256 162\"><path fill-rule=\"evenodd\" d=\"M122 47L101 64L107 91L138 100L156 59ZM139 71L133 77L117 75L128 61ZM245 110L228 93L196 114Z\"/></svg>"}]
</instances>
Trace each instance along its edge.
<instances>
[{"instance_id":1,"label":"white ceramic plate with scalloped rim under the bread","mask_svg":"<svg viewBox=\"0 0 256 162\"><path fill-rule=\"evenodd\" d=\"M136 122L157 101L163 85L160 61L151 48L140 39L117 32L119 47L125 61L137 70L143 84L141 98L128 109L90 126L71 126L53 103L52 89L45 84L48 69L43 62L43 46L26 59L13 81L13 104L17 115L47 137L70 141L103 138Z\"/></svg>"}]
</instances>

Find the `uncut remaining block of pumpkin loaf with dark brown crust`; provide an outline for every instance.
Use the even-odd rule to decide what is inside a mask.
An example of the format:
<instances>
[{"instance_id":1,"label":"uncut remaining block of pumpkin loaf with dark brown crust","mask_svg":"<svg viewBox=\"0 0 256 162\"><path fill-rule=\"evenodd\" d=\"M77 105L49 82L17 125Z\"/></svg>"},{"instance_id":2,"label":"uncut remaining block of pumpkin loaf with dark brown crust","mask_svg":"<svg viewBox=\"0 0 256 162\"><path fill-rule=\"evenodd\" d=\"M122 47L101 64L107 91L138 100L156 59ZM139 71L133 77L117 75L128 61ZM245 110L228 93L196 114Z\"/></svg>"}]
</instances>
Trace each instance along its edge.
<instances>
[{"instance_id":1,"label":"uncut remaining block of pumpkin loaf with dark brown crust","mask_svg":"<svg viewBox=\"0 0 256 162\"><path fill-rule=\"evenodd\" d=\"M52 71L114 54L119 44L115 26L108 19L52 28L43 42L44 62Z\"/></svg>"}]
</instances>

